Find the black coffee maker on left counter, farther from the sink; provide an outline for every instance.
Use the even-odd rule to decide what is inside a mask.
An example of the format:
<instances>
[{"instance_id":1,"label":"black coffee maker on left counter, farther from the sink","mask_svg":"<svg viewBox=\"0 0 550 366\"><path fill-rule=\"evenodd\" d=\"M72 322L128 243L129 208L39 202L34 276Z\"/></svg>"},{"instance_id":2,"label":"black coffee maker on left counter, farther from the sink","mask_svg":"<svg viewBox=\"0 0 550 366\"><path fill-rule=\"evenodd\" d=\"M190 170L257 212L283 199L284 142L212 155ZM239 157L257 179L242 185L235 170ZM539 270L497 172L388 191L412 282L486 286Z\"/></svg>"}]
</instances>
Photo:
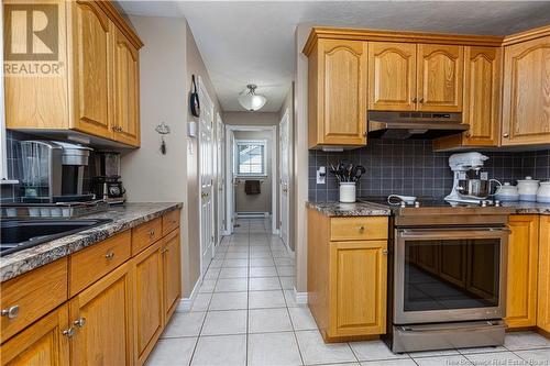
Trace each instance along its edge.
<instances>
[{"instance_id":1,"label":"black coffee maker on left counter, farther from the sink","mask_svg":"<svg viewBox=\"0 0 550 366\"><path fill-rule=\"evenodd\" d=\"M111 204L127 200L125 189L120 177L120 153L97 152L94 154L91 189L98 199Z\"/></svg>"}]
</instances>

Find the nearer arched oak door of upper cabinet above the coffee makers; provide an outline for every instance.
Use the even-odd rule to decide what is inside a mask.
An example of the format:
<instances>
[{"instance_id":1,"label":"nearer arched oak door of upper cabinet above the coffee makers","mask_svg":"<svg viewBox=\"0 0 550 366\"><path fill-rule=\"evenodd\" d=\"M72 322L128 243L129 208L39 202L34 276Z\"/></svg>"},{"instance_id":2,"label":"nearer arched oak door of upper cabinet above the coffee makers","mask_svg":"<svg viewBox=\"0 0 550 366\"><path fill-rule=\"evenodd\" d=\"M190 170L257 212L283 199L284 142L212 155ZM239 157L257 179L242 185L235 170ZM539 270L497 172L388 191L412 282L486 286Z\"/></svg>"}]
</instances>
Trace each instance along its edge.
<instances>
[{"instance_id":1,"label":"nearer arched oak door of upper cabinet above the coffee makers","mask_svg":"<svg viewBox=\"0 0 550 366\"><path fill-rule=\"evenodd\" d=\"M92 1L73 3L74 109L73 127L111 138L111 27Z\"/></svg>"}]
</instances>

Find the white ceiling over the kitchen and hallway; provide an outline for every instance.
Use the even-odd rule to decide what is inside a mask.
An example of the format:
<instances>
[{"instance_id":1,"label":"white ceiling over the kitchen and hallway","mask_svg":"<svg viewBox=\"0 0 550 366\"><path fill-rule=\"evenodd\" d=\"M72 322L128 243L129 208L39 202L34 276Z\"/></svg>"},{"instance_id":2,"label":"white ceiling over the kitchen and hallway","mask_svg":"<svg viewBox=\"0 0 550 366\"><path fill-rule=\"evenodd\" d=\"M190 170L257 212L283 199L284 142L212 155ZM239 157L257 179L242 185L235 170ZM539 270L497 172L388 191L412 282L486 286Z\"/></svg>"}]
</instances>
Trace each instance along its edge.
<instances>
[{"instance_id":1,"label":"white ceiling over the kitchen and hallway","mask_svg":"<svg viewBox=\"0 0 550 366\"><path fill-rule=\"evenodd\" d=\"M550 1L119 1L128 14L185 16L224 111L256 84L276 112L294 76L299 23L504 35L550 23Z\"/></svg>"}]
</instances>

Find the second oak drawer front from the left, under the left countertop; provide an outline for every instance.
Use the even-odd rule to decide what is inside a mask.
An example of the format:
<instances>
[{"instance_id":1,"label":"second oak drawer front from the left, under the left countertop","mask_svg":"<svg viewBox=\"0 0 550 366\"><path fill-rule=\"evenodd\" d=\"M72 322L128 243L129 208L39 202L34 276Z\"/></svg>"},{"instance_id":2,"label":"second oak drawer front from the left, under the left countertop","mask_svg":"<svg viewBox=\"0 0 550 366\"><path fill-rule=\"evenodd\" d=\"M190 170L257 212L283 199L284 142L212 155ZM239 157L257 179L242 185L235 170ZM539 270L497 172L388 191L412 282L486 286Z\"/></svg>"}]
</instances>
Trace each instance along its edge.
<instances>
[{"instance_id":1,"label":"second oak drawer front from the left, under the left countertop","mask_svg":"<svg viewBox=\"0 0 550 366\"><path fill-rule=\"evenodd\" d=\"M70 255L70 296L84 290L131 256L130 230Z\"/></svg>"}]
</instances>

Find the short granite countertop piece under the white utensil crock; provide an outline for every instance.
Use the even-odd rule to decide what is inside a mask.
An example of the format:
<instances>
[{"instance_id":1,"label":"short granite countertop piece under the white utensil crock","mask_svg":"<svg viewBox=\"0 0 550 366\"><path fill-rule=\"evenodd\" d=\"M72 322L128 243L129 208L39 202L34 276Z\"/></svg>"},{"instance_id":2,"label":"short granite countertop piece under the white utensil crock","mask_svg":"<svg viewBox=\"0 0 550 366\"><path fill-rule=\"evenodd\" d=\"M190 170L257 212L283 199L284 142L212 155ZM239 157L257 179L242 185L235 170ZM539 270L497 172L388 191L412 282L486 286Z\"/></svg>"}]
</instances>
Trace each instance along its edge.
<instances>
[{"instance_id":1,"label":"short granite countertop piece under the white utensil crock","mask_svg":"<svg viewBox=\"0 0 550 366\"><path fill-rule=\"evenodd\" d=\"M306 202L307 207L328 217L388 217L392 210L383 204L372 202Z\"/></svg>"}]
</instances>

